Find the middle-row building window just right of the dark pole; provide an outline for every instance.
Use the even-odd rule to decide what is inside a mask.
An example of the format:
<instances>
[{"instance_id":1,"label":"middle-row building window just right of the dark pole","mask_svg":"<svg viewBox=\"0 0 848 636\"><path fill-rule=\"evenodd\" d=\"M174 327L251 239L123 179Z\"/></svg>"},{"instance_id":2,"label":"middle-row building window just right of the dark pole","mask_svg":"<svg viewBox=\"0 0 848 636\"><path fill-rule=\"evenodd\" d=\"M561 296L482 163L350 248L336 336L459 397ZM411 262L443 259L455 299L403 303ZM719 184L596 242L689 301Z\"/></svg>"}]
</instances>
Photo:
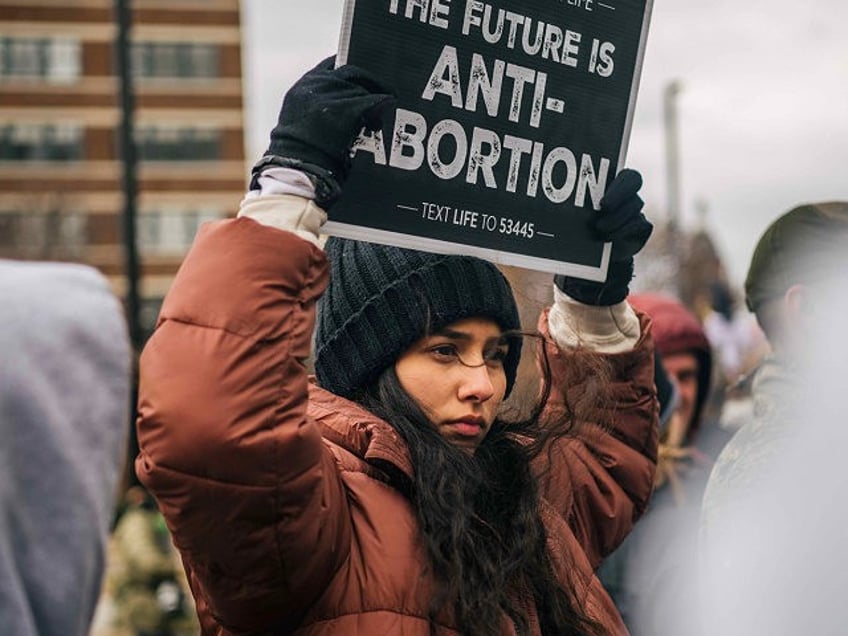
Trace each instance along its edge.
<instances>
[{"instance_id":1,"label":"middle-row building window just right of the dark pole","mask_svg":"<svg viewBox=\"0 0 848 636\"><path fill-rule=\"evenodd\" d=\"M221 158L221 132L205 128L146 127L136 130L143 161L216 161Z\"/></svg>"}]
</instances>

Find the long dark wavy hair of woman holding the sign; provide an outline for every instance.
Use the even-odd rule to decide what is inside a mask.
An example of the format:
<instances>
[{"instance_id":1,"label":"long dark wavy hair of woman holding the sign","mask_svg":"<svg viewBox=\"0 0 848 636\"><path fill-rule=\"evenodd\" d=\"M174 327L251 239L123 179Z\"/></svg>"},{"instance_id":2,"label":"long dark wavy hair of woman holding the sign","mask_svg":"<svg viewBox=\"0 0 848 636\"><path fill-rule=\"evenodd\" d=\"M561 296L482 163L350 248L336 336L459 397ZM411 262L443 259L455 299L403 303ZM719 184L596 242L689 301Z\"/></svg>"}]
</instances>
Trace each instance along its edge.
<instances>
[{"instance_id":1,"label":"long dark wavy hair of woman holding the sign","mask_svg":"<svg viewBox=\"0 0 848 636\"><path fill-rule=\"evenodd\" d=\"M404 391L394 366L359 397L409 447L414 476L408 489L437 583L433 630L437 615L452 609L463 634L500 633L504 614L519 634L529 634L531 618L515 599L530 596L543 634L603 633L570 586L557 580L546 547L531 464L552 438L572 432L574 413L558 412L553 422L543 417L551 371L547 356L540 357L539 399L521 419L499 416L473 456L442 438Z\"/></svg>"}]
</instances>

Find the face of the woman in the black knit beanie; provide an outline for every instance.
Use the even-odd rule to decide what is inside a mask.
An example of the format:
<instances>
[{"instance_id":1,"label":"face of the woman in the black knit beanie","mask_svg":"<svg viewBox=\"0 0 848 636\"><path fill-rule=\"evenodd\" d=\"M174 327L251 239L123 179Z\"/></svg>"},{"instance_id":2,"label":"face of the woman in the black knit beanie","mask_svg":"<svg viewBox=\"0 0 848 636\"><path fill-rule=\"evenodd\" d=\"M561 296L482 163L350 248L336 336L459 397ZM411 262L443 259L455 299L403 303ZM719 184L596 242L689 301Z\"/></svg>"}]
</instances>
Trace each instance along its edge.
<instances>
[{"instance_id":1,"label":"face of the woman in the black knit beanie","mask_svg":"<svg viewBox=\"0 0 848 636\"><path fill-rule=\"evenodd\" d=\"M398 358L395 373L439 433L473 452L503 401L508 352L497 323L466 318L413 344Z\"/></svg>"}]
</instances>

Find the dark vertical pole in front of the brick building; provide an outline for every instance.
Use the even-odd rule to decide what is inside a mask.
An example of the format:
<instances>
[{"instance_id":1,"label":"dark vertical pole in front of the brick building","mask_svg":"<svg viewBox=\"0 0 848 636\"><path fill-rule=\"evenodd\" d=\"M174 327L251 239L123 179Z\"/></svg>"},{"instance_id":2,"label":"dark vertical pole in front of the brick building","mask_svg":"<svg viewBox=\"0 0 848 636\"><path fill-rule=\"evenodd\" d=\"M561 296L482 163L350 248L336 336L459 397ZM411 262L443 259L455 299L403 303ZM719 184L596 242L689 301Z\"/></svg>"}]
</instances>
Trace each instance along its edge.
<instances>
[{"instance_id":1,"label":"dark vertical pole in front of the brick building","mask_svg":"<svg viewBox=\"0 0 848 636\"><path fill-rule=\"evenodd\" d=\"M138 181L136 177L135 139L133 134L133 115L135 112L135 93L133 91L132 71L130 68L130 38L132 18L129 8L130 0L115 0L115 21L117 23L117 38L115 40L115 70L120 82L120 149L123 174L124 210L121 215L121 235L124 243L124 273L127 279L125 305L127 312L127 327L133 348L138 351L142 345L141 325L139 320L139 272L141 265L136 245L136 199Z\"/></svg>"}]
</instances>

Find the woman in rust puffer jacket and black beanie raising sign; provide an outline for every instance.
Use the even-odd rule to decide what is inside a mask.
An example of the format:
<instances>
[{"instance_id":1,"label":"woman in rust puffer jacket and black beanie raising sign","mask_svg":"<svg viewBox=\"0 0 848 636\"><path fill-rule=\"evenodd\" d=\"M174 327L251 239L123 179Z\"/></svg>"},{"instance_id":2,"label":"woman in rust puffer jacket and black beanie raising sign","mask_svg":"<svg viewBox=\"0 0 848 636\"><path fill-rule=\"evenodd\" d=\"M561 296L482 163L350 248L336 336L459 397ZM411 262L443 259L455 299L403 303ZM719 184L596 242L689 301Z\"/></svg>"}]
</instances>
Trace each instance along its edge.
<instances>
[{"instance_id":1,"label":"woman in rust puffer jacket and black beanie raising sign","mask_svg":"<svg viewBox=\"0 0 848 636\"><path fill-rule=\"evenodd\" d=\"M204 633L626 633L593 571L656 454L648 323L623 302L651 229L638 175L598 215L607 283L559 277L541 319L550 400L507 423L520 324L497 268L319 247L352 139L390 106L330 61L289 91L239 218L201 230L142 355L136 470Z\"/></svg>"}]
</instances>

